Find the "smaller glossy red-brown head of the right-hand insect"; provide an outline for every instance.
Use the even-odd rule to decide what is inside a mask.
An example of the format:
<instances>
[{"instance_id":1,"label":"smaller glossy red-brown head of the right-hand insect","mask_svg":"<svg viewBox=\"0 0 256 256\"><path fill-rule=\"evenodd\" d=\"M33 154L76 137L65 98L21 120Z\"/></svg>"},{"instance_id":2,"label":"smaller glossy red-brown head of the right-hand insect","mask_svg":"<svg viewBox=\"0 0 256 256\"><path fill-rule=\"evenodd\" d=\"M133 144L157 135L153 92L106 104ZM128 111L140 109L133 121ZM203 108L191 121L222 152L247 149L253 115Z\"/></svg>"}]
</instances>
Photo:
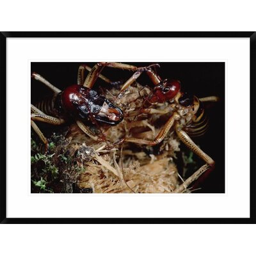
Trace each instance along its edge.
<instances>
[{"instance_id":1,"label":"smaller glossy red-brown head of the right-hand insect","mask_svg":"<svg viewBox=\"0 0 256 256\"><path fill-rule=\"evenodd\" d=\"M177 93L180 92L180 81L165 79L161 83L157 84L152 92L152 96L149 97L150 103L163 103L168 100L172 100Z\"/></svg>"}]
</instances>

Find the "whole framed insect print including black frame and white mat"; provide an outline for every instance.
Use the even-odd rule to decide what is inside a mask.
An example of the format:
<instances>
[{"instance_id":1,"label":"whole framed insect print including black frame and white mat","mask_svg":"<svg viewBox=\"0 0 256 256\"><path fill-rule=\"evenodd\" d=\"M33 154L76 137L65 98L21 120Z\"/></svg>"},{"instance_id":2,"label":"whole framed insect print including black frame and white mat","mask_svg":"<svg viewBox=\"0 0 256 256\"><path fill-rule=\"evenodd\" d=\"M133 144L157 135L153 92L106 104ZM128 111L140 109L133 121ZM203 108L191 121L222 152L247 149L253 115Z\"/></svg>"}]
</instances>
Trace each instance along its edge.
<instances>
[{"instance_id":1,"label":"whole framed insect print including black frame and white mat","mask_svg":"<svg viewBox=\"0 0 256 256\"><path fill-rule=\"evenodd\" d=\"M2 223L255 223L255 35L1 33Z\"/></svg>"}]
</instances>

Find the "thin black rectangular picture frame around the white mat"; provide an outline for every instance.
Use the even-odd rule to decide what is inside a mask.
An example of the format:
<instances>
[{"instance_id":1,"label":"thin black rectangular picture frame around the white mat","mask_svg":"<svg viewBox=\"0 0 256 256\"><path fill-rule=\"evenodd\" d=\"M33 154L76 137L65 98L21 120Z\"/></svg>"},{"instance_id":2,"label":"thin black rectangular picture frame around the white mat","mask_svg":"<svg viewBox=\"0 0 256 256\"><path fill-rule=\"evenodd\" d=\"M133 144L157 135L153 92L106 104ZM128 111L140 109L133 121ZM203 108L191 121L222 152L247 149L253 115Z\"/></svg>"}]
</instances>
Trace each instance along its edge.
<instances>
[{"instance_id":1,"label":"thin black rectangular picture frame around the white mat","mask_svg":"<svg viewBox=\"0 0 256 256\"><path fill-rule=\"evenodd\" d=\"M250 38L250 218L6 218L6 39L7 38ZM0 33L0 97L1 97L1 223L256 223L255 174L255 87L256 32L1 32Z\"/></svg>"}]
</instances>

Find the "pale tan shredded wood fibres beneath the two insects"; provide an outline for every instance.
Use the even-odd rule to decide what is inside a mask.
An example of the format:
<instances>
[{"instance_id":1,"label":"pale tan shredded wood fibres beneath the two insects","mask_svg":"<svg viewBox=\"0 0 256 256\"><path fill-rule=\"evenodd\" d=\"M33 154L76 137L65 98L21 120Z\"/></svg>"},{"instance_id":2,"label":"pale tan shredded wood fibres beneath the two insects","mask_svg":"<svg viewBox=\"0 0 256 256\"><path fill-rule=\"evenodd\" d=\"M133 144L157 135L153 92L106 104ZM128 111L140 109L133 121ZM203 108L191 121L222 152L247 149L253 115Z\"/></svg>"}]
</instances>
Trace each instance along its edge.
<instances>
[{"instance_id":1,"label":"pale tan shredded wood fibres beneath the two insects","mask_svg":"<svg viewBox=\"0 0 256 256\"><path fill-rule=\"evenodd\" d=\"M175 152L179 151L179 140L174 134L168 134L161 145L156 147L157 150L132 143L117 145L111 150L106 149L125 136L154 139L164 120L154 115L150 116L150 120L146 115L139 118L132 115L143 106L143 96L148 93L147 88L136 84L115 100L115 104L124 110L125 115L130 116L126 116L125 120L116 126L102 129L106 141L97 143L76 125L70 127L68 138L72 140L68 148L73 148L71 151L76 148L79 152L90 149L94 152L90 156L84 156L84 160L80 154L79 164L84 166L84 172L80 173L77 180L79 188L92 188L93 193L172 193L182 183L173 163ZM118 90L111 90L106 97L111 99L112 95L118 95ZM98 135L102 136L99 131ZM121 147L124 148L122 156Z\"/></svg>"}]
</instances>

